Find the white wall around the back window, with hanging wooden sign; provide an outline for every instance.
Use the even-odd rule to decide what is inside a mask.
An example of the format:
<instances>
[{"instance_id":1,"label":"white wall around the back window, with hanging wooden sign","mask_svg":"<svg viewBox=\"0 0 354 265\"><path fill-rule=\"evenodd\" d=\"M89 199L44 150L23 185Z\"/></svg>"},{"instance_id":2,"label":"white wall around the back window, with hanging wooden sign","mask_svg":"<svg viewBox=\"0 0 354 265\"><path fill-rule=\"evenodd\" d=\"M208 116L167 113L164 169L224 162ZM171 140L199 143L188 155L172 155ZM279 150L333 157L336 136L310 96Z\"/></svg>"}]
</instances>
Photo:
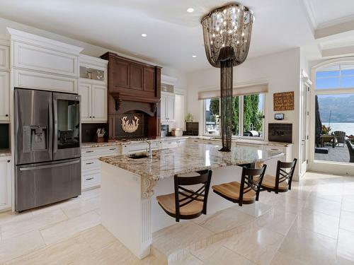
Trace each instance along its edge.
<instances>
[{"instance_id":1,"label":"white wall around the back window, with hanging wooden sign","mask_svg":"<svg viewBox=\"0 0 354 265\"><path fill-rule=\"evenodd\" d=\"M299 158L300 49L247 59L244 64L234 67L234 85L260 81L268 82L268 93L265 95L265 140L268 140L268 123L277 122L274 119L276 112L273 111L273 93L295 91L295 110L283 112L285 119L281 122L292 123L293 156ZM188 74L187 112L193 114L196 122L201 122L202 117L198 92L219 88L219 82L220 70L212 66Z\"/></svg>"}]
</instances>

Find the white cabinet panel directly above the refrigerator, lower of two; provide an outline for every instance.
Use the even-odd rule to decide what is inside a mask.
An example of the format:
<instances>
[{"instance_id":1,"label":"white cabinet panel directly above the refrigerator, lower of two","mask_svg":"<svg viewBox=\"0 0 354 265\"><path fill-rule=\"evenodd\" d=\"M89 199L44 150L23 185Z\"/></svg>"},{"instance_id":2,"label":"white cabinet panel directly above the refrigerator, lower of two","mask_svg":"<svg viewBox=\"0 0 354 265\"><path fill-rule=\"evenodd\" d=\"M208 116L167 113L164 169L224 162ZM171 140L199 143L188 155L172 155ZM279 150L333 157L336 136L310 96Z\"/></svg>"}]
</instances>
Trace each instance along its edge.
<instances>
[{"instance_id":1,"label":"white cabinet panel directly above the refrigerator, lower of two","mask_svg":"<svg viewBox=\"0 0 354 265\"><path fill-rule=\"evenodd\" d=\"M20 88L77 93L77 78L15 69L14 86Z\"/></svg>"}]
</instances>

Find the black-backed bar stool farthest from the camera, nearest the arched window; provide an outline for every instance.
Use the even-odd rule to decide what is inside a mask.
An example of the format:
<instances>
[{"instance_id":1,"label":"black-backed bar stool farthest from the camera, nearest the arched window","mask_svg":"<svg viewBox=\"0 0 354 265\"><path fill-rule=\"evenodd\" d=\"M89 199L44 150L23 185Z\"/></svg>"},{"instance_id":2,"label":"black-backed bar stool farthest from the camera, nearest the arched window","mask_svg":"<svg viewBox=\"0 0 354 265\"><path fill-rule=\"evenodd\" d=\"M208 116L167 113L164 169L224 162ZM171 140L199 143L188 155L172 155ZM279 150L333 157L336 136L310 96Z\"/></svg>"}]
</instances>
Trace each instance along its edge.
<instances>
[{"instance_id":1,"label":"black-backed bar stool farthest from the camera, nearest the arched window","mask_svg":"<svg viewBox=\"0 0 354 265\"><path fill-rule=\"evenodd\" d=\"M296 163L296 158L294 158L294 160L289 163L278 160L275 177L272 175L265 175L261 184L262 190L275 192L275 194L278 194L279 192L287 192L290 190Z\"/></svg>"}]
</instances>

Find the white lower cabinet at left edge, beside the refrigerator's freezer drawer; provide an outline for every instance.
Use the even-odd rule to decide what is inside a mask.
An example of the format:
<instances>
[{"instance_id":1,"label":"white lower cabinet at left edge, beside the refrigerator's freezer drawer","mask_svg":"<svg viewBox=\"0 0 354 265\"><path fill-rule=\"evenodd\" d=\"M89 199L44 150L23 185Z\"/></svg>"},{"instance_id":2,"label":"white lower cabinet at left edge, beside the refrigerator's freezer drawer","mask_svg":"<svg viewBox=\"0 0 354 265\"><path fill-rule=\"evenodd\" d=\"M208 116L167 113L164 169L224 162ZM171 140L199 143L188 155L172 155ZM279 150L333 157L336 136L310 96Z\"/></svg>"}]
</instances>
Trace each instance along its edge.
<instances>
[{"instance_id":1,"label":"white lower cabinet at left edge, beside the refrigerator's freezer drawer","mask_svg":"<svg viewBox=\"0 0 354 265\"><path fill-rule=\"evenodd\" d=\"M0 158L0 211L11 208L11 157Z\"/></svg>"}]
</instances>

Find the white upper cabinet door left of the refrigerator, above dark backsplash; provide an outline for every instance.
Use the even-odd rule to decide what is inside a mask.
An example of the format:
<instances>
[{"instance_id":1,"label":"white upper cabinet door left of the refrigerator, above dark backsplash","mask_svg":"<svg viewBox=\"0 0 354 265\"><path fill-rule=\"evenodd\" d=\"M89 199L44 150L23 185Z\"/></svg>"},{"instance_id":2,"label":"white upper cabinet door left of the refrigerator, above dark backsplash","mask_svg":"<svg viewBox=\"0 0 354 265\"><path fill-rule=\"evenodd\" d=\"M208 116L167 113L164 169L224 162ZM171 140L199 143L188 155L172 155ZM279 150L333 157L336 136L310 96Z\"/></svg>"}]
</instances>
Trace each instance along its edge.
<instances>
[{"instance_id":1,"label":"white upper cabinet door left of the refrigerator, above dark backsplash","mask_svg":"<svg viewBox=\"0 0 354 265\"><path fill-rule=\"evenodd\" d=\"M10 122L9 73L0 71L0 122Z\"/></svg>"}]
</instances>

